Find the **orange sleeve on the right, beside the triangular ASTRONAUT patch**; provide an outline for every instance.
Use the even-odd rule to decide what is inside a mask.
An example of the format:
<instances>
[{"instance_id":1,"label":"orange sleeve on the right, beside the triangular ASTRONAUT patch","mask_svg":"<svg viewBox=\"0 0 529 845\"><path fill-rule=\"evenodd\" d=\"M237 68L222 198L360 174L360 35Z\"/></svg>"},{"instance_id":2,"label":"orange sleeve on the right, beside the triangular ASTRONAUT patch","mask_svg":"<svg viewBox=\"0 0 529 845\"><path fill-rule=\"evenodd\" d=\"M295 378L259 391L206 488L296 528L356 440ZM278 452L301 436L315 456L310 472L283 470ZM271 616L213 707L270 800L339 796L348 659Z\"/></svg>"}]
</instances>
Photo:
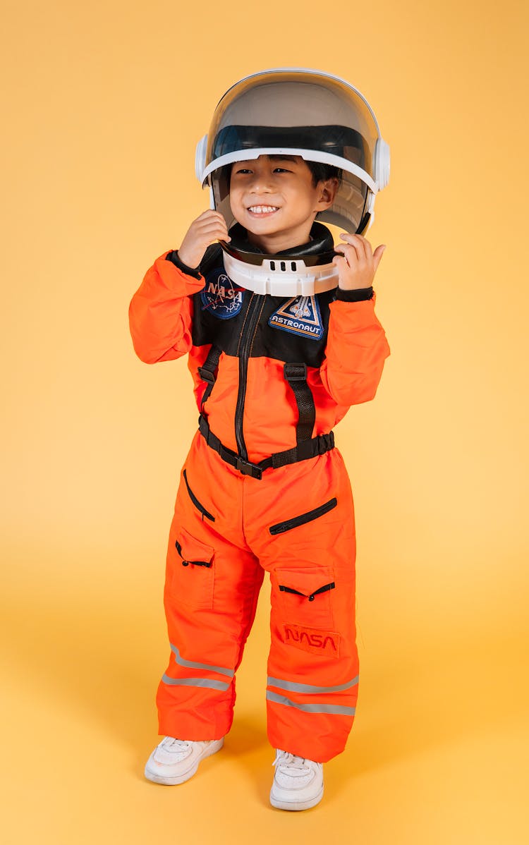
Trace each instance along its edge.
<instances>
[{"instance_id":1,"label":"orange sleeve on the right, beside the triangular ASTRONAUT patch","mask_svg":"<svg viewBox=\"0 0 529 845\"><path fill-rule=\"evenodd\" d=\"M389 354L384 329L374 313L374 299L358 303L337 299L331 303L320 376L338 405L358 405L373 399Z\"/></svg>"}]
</instances>

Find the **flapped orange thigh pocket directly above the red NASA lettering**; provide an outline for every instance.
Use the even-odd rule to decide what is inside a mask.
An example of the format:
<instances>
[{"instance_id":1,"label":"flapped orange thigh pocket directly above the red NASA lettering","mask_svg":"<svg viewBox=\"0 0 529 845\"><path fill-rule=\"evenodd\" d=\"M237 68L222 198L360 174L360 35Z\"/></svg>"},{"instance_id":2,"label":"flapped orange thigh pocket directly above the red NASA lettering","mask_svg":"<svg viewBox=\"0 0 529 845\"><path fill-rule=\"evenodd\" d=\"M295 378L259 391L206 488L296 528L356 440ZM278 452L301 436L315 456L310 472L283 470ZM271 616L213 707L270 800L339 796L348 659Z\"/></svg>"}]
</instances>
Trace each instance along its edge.
<instances>
[{"instance_id":1,"label":"flapped orange thigh pocket directly above the red NASA lettering","mask_svg":"<svg viewBox=\"0 0 529 845\"><path fill-rule=\"evenodd\" d=\"M277 567L271 573L275 602L284 622L333 627L334 571L331 566Z\"/></svg>"}]
</instances>

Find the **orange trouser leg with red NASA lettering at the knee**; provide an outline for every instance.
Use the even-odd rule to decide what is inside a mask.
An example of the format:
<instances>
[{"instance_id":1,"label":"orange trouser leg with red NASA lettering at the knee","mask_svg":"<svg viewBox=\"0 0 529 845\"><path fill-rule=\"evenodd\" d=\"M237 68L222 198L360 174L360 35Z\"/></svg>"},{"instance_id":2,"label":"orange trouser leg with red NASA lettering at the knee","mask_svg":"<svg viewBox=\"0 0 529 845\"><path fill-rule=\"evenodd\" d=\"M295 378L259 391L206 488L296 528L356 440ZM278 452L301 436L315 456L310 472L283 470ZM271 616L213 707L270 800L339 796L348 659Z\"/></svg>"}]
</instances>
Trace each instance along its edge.
<instances>
[{"instance_id":1,"label":"orange trouser leg with red NASA lettering at the knee","mask_svg":"<svg viewBox=\"0 0 529 845\"><path fill-rule=\"evenodd\" d=\"M270 743L324 762L344 749L357 704L355 536L341 456L314 464L280 471L254 539L271 580Z\"/></svg>"}]
</instances>

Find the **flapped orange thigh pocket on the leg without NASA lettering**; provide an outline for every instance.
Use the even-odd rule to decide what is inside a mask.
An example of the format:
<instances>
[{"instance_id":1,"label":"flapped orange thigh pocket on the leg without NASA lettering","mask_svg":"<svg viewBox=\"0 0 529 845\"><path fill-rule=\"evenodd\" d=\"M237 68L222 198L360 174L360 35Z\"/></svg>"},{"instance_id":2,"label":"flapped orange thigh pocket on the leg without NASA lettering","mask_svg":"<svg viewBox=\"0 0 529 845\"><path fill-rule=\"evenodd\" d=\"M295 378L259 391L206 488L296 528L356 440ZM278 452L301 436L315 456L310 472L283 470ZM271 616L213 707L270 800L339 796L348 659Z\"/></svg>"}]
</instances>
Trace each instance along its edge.
<instances>
[{"instance_id":1,"label":"flapped orange thigh pocket on the leg without NASA lettering","mask_svg":"<svg viewBox=\"0 0 529 845\"><path fill-rule=\"evenodd\" d=\"M215 549L192 537L185 528L177 531L176 537L170 550L172 599L190 608L213 608Z\"/></svg>"}]
</instances>

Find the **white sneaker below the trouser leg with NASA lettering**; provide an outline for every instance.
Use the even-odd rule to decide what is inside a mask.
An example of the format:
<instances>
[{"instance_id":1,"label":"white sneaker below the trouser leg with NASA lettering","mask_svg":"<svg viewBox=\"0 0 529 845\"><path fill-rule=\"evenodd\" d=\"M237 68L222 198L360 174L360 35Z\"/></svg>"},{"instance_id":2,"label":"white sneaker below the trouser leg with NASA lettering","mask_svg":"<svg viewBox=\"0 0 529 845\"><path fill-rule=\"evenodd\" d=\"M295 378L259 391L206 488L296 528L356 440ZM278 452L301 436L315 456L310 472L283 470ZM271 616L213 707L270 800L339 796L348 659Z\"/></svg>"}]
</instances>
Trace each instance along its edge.
<instances>
[{"instance_id":1,"label":"white sneaker below the trouser leg with NASA lettering","mask_svg":"<svg viewBox=\"0 0 529 845\"><path fill-rule=\"evenodd\" d=\"M319 804L324 794L324 766L304 760L288 751L275 750L274 782L270 804L278 810L308 810Z\"/></svg>"}]
</instances>

